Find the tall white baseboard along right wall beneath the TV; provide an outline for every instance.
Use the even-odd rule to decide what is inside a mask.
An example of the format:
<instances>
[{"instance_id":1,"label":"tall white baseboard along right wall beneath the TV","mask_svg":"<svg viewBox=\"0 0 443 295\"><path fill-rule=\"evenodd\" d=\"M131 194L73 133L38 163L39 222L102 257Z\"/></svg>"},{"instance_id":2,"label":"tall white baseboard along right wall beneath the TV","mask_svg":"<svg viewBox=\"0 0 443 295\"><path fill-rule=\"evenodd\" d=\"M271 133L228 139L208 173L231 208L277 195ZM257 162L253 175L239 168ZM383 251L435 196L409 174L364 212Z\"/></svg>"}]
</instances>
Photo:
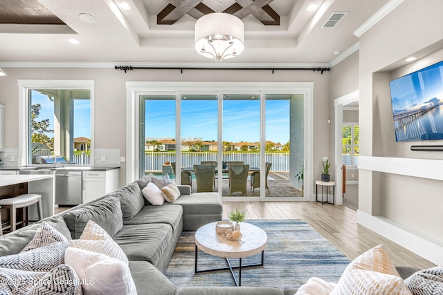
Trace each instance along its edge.
<instances>
[{"instance_id":1,"label":"tall white baseboard along right wall beneath the TV","mask_svg":"<svg viewBox=\"0 0 443 295\"><path fill-rule=\"evenodd\" d=\"M443 265L443 245L430 238L419 236L386 217L371 216L361 210L357 210L357 222L432 263Z\"/></svg>"}]
</instances>

